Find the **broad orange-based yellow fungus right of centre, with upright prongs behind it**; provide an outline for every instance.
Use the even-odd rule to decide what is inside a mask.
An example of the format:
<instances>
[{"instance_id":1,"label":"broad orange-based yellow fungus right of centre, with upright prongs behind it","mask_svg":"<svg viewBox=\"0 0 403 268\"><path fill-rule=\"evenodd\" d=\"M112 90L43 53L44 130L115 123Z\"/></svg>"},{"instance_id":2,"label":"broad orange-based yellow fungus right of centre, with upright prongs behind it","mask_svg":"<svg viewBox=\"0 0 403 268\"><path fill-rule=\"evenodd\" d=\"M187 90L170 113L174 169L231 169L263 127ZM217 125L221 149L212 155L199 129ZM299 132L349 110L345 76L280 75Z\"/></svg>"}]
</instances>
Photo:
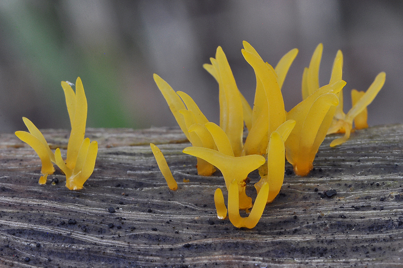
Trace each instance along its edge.
<instances>
[{"instance_id":1,"label":"broad orange-based yellow fungus right of centre, with upright prongs behind it","mask_svg":"<svg viewBox=\"0 0 403 268\"><path fill-rule=\"evenodd\" d=\"M339 50L333 63L328 85L319 88L319 67L323 45L319 44L302 76L303 101L287 113L297 121L285 142L286 157L297 175L305 176L313 169L315 155L322 144L334 116L340 111L339 97L345 82L341 80L343 56ZM341 104L342 110L342 104Z\"/></svg>"}]
</instances>

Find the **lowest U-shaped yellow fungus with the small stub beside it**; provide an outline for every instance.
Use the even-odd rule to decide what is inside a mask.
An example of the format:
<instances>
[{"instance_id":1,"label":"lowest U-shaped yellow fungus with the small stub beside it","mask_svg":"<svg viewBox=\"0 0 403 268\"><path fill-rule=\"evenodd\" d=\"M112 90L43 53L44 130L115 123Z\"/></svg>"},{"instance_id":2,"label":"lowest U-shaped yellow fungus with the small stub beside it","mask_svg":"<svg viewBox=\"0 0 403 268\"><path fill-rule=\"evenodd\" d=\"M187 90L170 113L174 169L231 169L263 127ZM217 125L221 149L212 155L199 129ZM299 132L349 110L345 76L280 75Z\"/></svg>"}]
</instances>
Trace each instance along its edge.
<instances>
[{"instance_id":1,"label":"lowest U-shaped yellow fungus with the small stub beside it","mask_svg":"<svg viewBox=\"0 0 403 268\"><path fill-rule=\"evenodd\" d=\"M239 212L239 184L236 180L232 180L228 189L228 217L231 223L237 227L253 228L256 226L262 217L263 210L266 207L267 196L269 193L268 183L264 183L258 196L253 204L250 214L246 218L242 218ZM217 196L216 196L217 195ZM217 189L214 194L215 207L217 208L217 217L223 219L224 212L227 215L227 209L224 203L223 192ZM225 217L224 217L225 218Z\"/></svg>"}]
</instances>

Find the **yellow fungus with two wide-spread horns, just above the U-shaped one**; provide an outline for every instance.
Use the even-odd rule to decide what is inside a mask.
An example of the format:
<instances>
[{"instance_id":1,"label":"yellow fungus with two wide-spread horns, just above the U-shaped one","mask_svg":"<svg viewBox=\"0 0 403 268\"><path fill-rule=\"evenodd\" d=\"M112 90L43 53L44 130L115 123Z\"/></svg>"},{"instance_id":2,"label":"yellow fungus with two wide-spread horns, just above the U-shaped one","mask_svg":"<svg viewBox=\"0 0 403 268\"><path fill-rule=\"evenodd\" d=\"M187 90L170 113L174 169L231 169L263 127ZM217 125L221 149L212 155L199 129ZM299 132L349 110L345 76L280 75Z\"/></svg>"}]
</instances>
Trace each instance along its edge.
<instances>
[{"instance_id":1,"label":"yellow fungus with two wide-spread horns, just above the U-shaped one","mask_svg":"<svg viewBox=\"0 0 403 268\"><path fill-rule=\"evenodd\" d=\"M221 170L227 189L229 188L231 181L235 179L239 184L239 208L247 209L251 207L252 199L246 195L245 180L247 180L247 176L250 172L259 168L266 162L263 156L254 154L234 157L225 155L212 149L201 147L187 147L183 150L183 152L205 159L207 162Z\"/></svg>"}]
</instances>

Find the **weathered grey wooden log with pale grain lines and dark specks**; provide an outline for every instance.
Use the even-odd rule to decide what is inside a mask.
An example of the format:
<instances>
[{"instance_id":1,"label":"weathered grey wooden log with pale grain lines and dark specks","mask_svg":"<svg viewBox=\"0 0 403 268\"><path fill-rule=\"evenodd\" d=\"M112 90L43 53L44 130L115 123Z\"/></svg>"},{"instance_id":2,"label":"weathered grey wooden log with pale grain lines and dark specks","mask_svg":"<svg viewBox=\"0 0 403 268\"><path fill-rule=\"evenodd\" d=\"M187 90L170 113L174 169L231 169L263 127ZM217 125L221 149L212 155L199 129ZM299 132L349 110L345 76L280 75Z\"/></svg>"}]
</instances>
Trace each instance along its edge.
<instances>
[{"instance_id":1,"label":"weathered grey wooden log with pale grain lines and dark specks","mask_svg":"<svg viewBox=\"0 0 403 268\"><path fill-rule=\"evenodd\" d=\"M68 131L43 133L52 148L66 147ZM60 171L39 185L35 152L0 134L1 267L403 265L403 125L357 131L336 148L329 147L335 135L326 137L306 177L287 164L279 196L253 229L216 218L213 195L217 187L226 195L223 177L196 174L179 129L88 129L86 136L99 143L96 169L84 189L70 191ZM169 190L150 142L178 190ZM254 199L257 172L250 178Z\"/></svg>"}]
</instances>

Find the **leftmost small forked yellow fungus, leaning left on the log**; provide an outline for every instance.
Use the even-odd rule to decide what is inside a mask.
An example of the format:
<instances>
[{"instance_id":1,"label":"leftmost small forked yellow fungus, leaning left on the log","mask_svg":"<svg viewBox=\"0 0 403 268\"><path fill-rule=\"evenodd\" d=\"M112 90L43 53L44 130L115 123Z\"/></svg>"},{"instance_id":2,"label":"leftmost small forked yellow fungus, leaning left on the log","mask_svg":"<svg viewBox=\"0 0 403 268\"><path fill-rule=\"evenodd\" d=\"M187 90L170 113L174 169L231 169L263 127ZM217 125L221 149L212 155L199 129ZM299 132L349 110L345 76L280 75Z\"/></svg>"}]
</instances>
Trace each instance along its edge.
<instances>
[{"instance_id":1,"label":"leftmost small forked yellow fungus, leaning left on the log","mask_svg":"<svg viewBox=\"0 0 403 268\"><path fill-rule=\"evenodd\" d=\"M42 135L39 129L36 128L28 118L23 117L23 121L25 126L27 126L29 133L25 131L16 131L15 135L31 146L32 149L35 150L36 154L38 154L42 162L41 173L43 174L39 180L39 184L45 184L47 175L53 174L54 172L54 167L52 164L52 162L55 162L54 154L50 150L45 137Z\"/></svg>"}]
</instances>

